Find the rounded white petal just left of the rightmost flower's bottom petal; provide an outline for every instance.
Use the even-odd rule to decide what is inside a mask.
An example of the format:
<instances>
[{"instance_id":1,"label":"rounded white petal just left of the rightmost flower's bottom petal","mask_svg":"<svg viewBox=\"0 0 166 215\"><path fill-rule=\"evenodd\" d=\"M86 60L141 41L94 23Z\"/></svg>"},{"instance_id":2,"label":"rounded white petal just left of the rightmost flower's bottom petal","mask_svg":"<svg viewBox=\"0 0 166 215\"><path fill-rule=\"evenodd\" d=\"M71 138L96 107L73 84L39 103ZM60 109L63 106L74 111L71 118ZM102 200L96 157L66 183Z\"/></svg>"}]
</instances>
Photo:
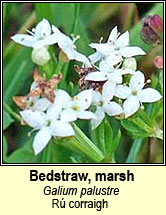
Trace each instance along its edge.
<instances>
[{"instance_id":1,"label":"rounded white petal just left of the rightmost flower's bottom petal","mask_svg":"<svg viewBox=\"0 0 166 215\"><path fill-rule=\"evenodd\" d=\"M103 109L109 116L116 116L123 113L123 109L116 102L105 102Z\"/></svg>"}]
</instances>

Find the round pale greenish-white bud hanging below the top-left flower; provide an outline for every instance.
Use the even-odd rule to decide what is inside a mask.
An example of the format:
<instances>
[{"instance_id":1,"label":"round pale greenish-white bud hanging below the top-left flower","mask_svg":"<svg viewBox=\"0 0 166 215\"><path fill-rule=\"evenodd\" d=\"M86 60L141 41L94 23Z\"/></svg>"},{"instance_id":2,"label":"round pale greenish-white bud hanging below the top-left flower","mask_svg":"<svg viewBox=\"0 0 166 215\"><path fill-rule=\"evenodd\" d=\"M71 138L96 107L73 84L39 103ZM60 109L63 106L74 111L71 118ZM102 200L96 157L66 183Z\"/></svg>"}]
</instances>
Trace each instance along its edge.
<instances>
[{"instance_id":1,"label":"round pale greenish-white bud hanging below the top-left flower","mask_svg":"<svg viewBox=\"0 0 166 215\"><path fill-rule=\"evenodd\" d=\"M33 49L32 51L32 61L40 66L45 65L50 60L50 53L46 47L40 49Z\"/></svg>"}]
</instances>

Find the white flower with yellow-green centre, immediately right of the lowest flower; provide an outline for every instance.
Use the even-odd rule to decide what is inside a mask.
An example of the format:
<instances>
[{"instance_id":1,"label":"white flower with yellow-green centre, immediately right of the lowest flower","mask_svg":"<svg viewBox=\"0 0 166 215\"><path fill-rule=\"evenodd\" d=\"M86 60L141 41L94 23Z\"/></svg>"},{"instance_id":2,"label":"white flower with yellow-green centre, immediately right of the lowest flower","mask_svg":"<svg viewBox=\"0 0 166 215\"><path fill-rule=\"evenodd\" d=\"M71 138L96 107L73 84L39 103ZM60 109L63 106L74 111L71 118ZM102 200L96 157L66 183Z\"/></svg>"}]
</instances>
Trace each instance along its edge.
<instances>
[{"instance_id":1,"label":"white flower with yellow-green centre, immediately right of the lowest flower","mask_svg":"<svg viewBox=\"0 0 166 215\"><path fill-rule=\"evenodd\" d=\"M75 121L79 119L94 119L95 114L87 111L92 103L93 90L84 90L77 96L74 96L70 101L66 102L65 110L62 111L61 119Z\"/></svg>"}]
</instances>

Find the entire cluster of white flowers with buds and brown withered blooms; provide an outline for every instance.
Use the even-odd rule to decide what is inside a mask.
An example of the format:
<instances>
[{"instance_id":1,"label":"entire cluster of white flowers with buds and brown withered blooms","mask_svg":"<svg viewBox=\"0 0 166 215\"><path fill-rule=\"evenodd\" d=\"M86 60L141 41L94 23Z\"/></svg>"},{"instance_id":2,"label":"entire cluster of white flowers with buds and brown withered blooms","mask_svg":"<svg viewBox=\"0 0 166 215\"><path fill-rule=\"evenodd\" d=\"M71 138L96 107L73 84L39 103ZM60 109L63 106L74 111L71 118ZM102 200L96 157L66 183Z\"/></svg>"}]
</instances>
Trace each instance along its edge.
<instances>
[{"instance_id":1,"label":"entire cluster of white flowers with buds and brown withered blooms","mask_svg":"<svg viewBox=\"0 0 166 215\"><path fill-rule=\"evenodd\" d=\"M24 46L32 47L32 60L44 65L50 60L49 45L57 44L69 60L82 62L79 85L85 89L71 97L57 85L62 75L45 80L37 70L34 82L26 96L14 97L22 109L23 121L33 130L38 130L33 142L35 154L40 153L52 137L74 136L72 122L77 119L91 120L92 129L97 128L105 114L129 117L138 111L143 102L161 99L160 93L152 88L143 89L144 74L137 71L137 55L145 52L129 45L129 32L120 35L115 27L106 43L91 43L96 52L89 57L76 51L73 40L56 26L43 19L30 35L17 34L12 39ZM124 102L122 102L124 100Z\"/></svg>"}]
</instances>

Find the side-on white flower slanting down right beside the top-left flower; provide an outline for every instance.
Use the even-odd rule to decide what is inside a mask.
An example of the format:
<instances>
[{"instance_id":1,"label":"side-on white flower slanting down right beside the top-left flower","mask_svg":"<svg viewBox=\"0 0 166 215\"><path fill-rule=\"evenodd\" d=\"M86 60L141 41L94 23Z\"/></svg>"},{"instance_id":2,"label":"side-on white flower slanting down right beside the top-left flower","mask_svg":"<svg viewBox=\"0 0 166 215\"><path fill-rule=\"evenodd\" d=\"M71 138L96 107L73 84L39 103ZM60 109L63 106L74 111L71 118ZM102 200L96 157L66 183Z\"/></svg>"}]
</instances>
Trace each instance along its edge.
<instances>
[{"instance_id":1,"label":"side-on white flower slanting down right beside the top-left flower","mask_svg":"<svg viewBox=\"0 0 166 215\"><path fill-rule=\"evenodd\" d=\"M78 39L76 37L74 40L71 40L70 37L63 34L56 26L52 26L52 30L54 32L54 37L57 40L58 46L61 48L62 52L64 52L69 60L77 60L82 62L87 67L91 67L91 63L88 58L83 54L76 51L76 46L74 43Z\"/></svg>"}]
</instances>

